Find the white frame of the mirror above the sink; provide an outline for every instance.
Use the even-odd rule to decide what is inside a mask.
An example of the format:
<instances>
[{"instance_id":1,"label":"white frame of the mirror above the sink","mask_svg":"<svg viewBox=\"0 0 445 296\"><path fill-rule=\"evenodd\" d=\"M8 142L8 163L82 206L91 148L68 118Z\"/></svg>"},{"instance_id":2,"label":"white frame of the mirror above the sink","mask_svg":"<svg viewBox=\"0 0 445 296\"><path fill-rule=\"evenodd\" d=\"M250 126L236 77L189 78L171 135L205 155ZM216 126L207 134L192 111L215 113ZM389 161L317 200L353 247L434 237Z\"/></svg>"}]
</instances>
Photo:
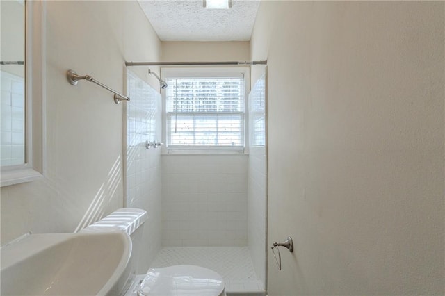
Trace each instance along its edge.
<instances>
[{"instance_id":1,"label":"white frame of the mirror above the sink","mask_svg":"<svg viewBox=\"0 0 445 296\"><path fill-rule=\"evenodd\" d=\"M1 187L41 178L45 171L46 4L25 1L26 163L1 167Z\"/></svg>"}]
</instances>

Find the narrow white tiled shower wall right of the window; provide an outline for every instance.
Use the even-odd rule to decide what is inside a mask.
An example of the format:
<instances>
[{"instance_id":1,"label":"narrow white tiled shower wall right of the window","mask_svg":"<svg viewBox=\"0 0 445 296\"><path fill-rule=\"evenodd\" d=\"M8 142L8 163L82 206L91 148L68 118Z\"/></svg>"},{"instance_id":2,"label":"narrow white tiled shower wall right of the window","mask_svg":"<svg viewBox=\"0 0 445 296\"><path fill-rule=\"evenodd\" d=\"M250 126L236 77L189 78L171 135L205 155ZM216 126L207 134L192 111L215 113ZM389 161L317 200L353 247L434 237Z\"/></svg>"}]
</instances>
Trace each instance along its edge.
<instances>
[{"instance_id":1,"label":"narrow white tiled shower wall right of the window","mask_svg":"<svg viewBox=\"0 0 445 296\"><path fill-rule=\"evenodd\" d=\"M248 245L258 279L266 282L266 76L249 95Z\"/></svg>"}]
</instances>

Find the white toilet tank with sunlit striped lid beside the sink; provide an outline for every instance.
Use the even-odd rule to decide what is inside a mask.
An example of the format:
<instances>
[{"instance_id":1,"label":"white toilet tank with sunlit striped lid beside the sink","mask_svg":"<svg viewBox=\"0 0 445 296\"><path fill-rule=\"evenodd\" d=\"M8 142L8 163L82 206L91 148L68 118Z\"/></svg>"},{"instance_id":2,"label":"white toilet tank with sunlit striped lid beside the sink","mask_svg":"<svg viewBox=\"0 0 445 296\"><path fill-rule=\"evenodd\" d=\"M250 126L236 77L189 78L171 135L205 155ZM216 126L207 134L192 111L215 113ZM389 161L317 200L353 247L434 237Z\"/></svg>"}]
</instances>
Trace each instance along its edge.
<instances>
[{"instance_id":1,"label":"white toilet tank with sunlit striped lid beside the sink","mask_svg":"<svg viewBox=\"0 0 445 296\"><path fill-rule=\"evenodd\" d=\"M140 208L120 208L101 220L82 229L80 232L124 231L131 237L131 257L127 270L120 280L117 293L122 295L130 286L132 278L138 271L138 258L143 244L143 227L147 212Z\"/></svg>"}]
</instances>

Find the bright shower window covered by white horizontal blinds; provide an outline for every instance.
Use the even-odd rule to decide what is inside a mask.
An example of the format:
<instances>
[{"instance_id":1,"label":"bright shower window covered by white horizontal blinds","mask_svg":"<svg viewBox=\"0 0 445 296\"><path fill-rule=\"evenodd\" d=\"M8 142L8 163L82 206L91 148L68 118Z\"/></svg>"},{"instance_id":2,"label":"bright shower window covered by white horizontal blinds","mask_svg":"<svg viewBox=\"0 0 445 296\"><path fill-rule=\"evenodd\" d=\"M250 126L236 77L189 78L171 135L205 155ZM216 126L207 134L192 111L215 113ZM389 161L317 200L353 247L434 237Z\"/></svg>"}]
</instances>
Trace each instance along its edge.
<instances>
[{"instance_id":1,"label":"bright shower window covered by white horizontal blinds","mask_svg":"<svg viewBox=\"0 0 445 296\"><path fill-rule=\"evenodd\" d=\"M245 147L247 68L165 69L169 152Z\"/></svg>"}]
</instances>

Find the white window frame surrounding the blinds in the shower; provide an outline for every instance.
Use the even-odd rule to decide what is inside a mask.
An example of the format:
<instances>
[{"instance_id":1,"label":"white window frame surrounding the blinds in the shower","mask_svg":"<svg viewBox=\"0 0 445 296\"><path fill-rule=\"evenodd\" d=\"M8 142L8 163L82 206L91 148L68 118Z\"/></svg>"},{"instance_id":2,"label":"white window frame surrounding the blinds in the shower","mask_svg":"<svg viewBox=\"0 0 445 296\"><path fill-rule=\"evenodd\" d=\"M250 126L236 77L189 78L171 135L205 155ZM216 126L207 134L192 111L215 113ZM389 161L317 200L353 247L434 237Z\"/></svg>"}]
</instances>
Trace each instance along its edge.
<instances>
[{"instance_id":1,"label":"white window frame surrounding the blinds in the shower","mask_svg":"<svg viewBox=\"0 0 445 296\"><path fill-rule=\"evenodd\" d=\"M165 143L163 146L163 154L247 154L249 139L248 139L248 95L250 92L250 67L162 67L161 77L165 81L173 77L193 78L193 77L239 77L244 81L244 97L243 107L241 113L243 115L243 147L218 147L218 146L168 146L168 110L167 110L167 91L162 90L162 104L163 104L163 135L162 140ZM223 114L223 113L221 113ZM234 112L229 114L240 114Z\"/></svg>"}]
</instances>

